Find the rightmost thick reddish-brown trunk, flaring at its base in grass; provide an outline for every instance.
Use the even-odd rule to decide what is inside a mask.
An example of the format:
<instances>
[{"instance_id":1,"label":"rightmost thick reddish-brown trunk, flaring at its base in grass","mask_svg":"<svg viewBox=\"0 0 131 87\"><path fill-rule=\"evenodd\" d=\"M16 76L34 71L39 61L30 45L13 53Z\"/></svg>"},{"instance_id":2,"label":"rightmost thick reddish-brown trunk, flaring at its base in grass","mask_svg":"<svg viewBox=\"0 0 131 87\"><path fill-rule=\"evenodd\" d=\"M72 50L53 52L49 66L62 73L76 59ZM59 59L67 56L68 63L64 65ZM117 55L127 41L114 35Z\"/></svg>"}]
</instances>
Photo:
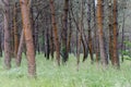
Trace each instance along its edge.
<instances>
[{"instance_id":1,"label":"rightmost thick reddish-brown trunk, flaring at its base in grass","mask_svg":"<svg viewBox=\"0 0 131 87\"><path fill-rule=\"evenodd\" d=\"M117 22L117 0L114 0L114 62L112 64L120 67L118 55L118 22Z\"/></svg>"}]
</instances>

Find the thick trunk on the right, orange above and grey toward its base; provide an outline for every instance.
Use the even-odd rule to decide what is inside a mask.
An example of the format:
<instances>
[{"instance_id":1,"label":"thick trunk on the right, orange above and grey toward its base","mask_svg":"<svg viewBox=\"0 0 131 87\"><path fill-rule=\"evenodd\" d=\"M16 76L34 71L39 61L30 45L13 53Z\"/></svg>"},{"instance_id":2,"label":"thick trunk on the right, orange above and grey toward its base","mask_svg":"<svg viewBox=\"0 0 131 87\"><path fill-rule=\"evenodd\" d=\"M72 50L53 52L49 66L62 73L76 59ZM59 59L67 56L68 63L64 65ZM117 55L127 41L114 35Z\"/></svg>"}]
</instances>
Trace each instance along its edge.
<instances>
[{"instance_id":1,"label":"thick trunk on the right, orange above and grey toward its base","mask_svg":"<svg viewBox=\"0 0 131 87\"><path fill-rule=\"evenodd\" d=\"M106 52L104 48L104 33L103 33L103 0L97 0L97 28L99 37L100 60L104 66L107 64Z\"/></svg>"}]
</instances>

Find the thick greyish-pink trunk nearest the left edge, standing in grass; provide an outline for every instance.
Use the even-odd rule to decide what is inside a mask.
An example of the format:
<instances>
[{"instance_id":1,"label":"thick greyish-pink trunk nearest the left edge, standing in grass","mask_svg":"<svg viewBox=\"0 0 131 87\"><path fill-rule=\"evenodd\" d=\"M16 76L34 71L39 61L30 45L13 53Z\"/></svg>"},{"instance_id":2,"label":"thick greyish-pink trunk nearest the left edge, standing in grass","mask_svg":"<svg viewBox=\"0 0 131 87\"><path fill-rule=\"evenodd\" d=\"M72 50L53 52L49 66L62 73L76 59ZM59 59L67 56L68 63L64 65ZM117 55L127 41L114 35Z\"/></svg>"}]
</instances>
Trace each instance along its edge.
<instances>
[{"instance_id":1,"label":"thick greyish-pink trunk nearest the left edge, standing in grass","mask_svg":"<svg viewBox=\"0 0 131 87\"><path fill-rule=\"evenodd\" d=\"M10 11L9 11L9 0L4 1L4 64L5 69L11 69L11 38L10 38Z\"/></svg>"}]
</instances>

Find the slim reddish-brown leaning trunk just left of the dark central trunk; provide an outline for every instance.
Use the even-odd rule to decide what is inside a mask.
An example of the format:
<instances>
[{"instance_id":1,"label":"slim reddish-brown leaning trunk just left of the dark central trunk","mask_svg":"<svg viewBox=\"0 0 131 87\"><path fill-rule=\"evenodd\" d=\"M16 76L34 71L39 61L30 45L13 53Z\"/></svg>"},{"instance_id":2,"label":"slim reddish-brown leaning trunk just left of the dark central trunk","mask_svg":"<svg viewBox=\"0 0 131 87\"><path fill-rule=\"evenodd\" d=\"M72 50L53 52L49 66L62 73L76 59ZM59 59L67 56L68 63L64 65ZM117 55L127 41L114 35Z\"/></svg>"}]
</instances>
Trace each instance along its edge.
<instances>
[{"instance_id":1,"label":"slim reddish-brown leaning trunk just left of the dark central trunk","mask_svg":"<svg viewBox=\"0 0 131 87\"><path fill-rule=\"evenodd\" d=\"M51 22L52 22L52 28L53 28L53 39L55 39L55 47L56 47L56 58L57 58L57 63L60 65L60 47L59 47L59 38L58 38L58 27L56 23L56 15L55 15L55 5L53 5L53 0L50 1L50 10L51 10Z\"/></svg>"}]
</instances>

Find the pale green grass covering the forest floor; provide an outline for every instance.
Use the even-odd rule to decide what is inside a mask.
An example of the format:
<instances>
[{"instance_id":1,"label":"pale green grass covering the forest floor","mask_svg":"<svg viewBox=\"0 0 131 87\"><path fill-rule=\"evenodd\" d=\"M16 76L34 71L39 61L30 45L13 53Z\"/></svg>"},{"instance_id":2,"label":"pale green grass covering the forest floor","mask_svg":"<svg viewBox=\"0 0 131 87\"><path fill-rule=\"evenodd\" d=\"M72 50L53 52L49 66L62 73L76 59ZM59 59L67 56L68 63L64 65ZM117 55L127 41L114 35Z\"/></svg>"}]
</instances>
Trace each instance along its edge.
<instances>
[{"instance_id":1,"label":"pale green grass covering the forest floor","mask_svg":"<svg viewBox=\"0 0 131 87\"><path fill-rule=\"evenodd\" d=\"M60 67L55 61L47 61L43 54L36 57L37 78L27 78L27 62L23 58L22 66L3 69L3 58L0 59L0 87L131 87L131 63L126 61L120 71L108 66L90 63L80 64L76 71L75 57L70 55L67 65Z\"/></svg>"}]
</instances>

